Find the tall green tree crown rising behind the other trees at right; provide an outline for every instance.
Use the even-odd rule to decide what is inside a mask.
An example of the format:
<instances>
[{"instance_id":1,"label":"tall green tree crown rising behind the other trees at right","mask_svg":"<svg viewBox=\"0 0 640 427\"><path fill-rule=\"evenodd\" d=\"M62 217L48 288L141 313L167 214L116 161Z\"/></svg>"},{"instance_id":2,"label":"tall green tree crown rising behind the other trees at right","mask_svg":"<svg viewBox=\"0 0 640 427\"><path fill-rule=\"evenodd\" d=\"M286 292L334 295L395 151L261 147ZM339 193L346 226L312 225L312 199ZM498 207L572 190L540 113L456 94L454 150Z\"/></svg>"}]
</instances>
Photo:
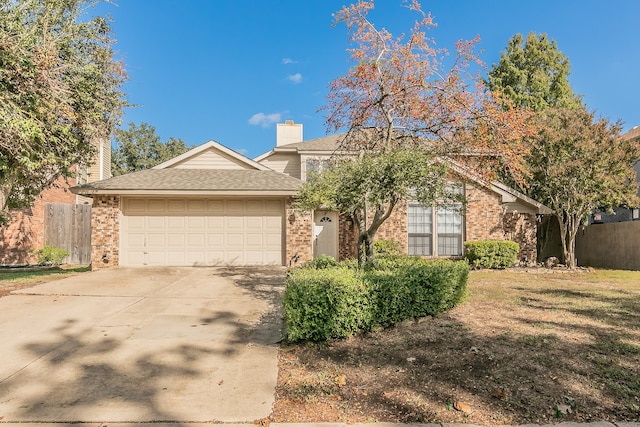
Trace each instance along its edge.
<instances>
[{"instance_id":1,"label":"tall green tree crown rising behind the other trees at right","mask_svg":"<svg viewBox=\"0 0 640 427\"><path fill-rule=\"evenodd\" d=\"M542 111L548 107L578 107L580 97L569 84L569 58L546 34L514 35L487 83L515 105Z\"/></svg>"}]
</instances>

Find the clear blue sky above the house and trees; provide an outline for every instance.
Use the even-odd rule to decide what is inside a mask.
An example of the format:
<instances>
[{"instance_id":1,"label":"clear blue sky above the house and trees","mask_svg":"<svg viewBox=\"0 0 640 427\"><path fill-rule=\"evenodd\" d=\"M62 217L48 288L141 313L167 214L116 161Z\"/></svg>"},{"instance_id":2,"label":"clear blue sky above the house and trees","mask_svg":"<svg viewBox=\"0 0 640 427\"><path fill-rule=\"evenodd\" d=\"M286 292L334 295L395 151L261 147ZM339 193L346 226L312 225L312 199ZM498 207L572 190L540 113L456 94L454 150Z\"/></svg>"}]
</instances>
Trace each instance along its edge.
<instances>
[{"instance_id":1,"label":"clear blue sky above the house and trees","mask_svg":"<svg viewBox=\"0 0 640 427\"><path fill-rule=\"evenodd\" d=\"M332 14L344 0L115 0L113 19L129 102L123 124L146 122L163 140L215 140L249 157L275 143L275 122L324 136L328 83L346 73L349 47ZM640 1L432 0L430 36L453 50L480 35L481 59L498 62L516 33L547 33L569 57L570 83L599 116L640 125ZM415 15L378 0L371 19L407 31Z\"/></svg>"}]
</instances>

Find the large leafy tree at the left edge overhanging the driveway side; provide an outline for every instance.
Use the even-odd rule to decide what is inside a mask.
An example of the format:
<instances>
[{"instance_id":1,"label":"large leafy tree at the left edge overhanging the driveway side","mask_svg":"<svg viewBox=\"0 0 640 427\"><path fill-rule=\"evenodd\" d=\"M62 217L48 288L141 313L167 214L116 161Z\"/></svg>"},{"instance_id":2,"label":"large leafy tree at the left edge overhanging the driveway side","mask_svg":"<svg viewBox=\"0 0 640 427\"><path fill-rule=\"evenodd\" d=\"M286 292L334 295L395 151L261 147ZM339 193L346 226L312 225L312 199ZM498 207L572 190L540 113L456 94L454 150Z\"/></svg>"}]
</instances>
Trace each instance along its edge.
<instances>
[{"instance_id":1,"label":"large leafy tree at the left edge overhanging the driveway side","mask_svg":"<svg viewBox=\"0 0 640 427\"><path fill-rule=\"evenodd\" d=\"M0 218L94 158L125 104L108 22L88 0L0 0Z\"/></svg>"}]
</instances>

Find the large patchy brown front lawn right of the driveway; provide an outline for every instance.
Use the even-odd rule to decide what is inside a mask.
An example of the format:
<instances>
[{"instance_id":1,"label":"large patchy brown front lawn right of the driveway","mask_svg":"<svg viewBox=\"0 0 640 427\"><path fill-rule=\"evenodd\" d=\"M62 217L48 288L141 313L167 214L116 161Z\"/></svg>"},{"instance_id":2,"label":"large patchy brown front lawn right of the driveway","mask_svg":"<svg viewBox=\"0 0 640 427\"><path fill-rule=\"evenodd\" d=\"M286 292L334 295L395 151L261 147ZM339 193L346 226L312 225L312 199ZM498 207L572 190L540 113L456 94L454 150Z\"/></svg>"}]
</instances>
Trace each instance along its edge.
<instances>
[{"instance_id":1,"label":"large patchy brown front lawn right of the driveway","mask_svg":"<svg viewBox=\"0 0 640 427\"><path fill-rule=\"evenodd\" d=\"M640 272L474 271L442 315L285 345L271 418L638 421Z\"/></svg>"}]
</instances>

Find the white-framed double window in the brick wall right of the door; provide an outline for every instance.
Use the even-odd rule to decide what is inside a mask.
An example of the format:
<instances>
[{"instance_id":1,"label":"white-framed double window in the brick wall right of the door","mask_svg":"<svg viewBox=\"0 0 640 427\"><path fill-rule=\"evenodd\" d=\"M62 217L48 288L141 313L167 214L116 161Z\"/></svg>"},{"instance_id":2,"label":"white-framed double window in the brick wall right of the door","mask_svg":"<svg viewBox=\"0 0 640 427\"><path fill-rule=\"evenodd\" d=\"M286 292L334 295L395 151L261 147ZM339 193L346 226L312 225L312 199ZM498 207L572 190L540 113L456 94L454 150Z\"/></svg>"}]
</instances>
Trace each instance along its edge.
<instances>
[{"instance_id":1,"label":"white-framed double window in the brick wall right of the door","mask_svg":"<svg viewBox=\"0 0 640 427\"><path fill-rule=\"evenodd\" d=\"M462 213L459 207L433 208L410 204L408 228L409 255L462 255Z\"/></svg>"}]
</instances>

